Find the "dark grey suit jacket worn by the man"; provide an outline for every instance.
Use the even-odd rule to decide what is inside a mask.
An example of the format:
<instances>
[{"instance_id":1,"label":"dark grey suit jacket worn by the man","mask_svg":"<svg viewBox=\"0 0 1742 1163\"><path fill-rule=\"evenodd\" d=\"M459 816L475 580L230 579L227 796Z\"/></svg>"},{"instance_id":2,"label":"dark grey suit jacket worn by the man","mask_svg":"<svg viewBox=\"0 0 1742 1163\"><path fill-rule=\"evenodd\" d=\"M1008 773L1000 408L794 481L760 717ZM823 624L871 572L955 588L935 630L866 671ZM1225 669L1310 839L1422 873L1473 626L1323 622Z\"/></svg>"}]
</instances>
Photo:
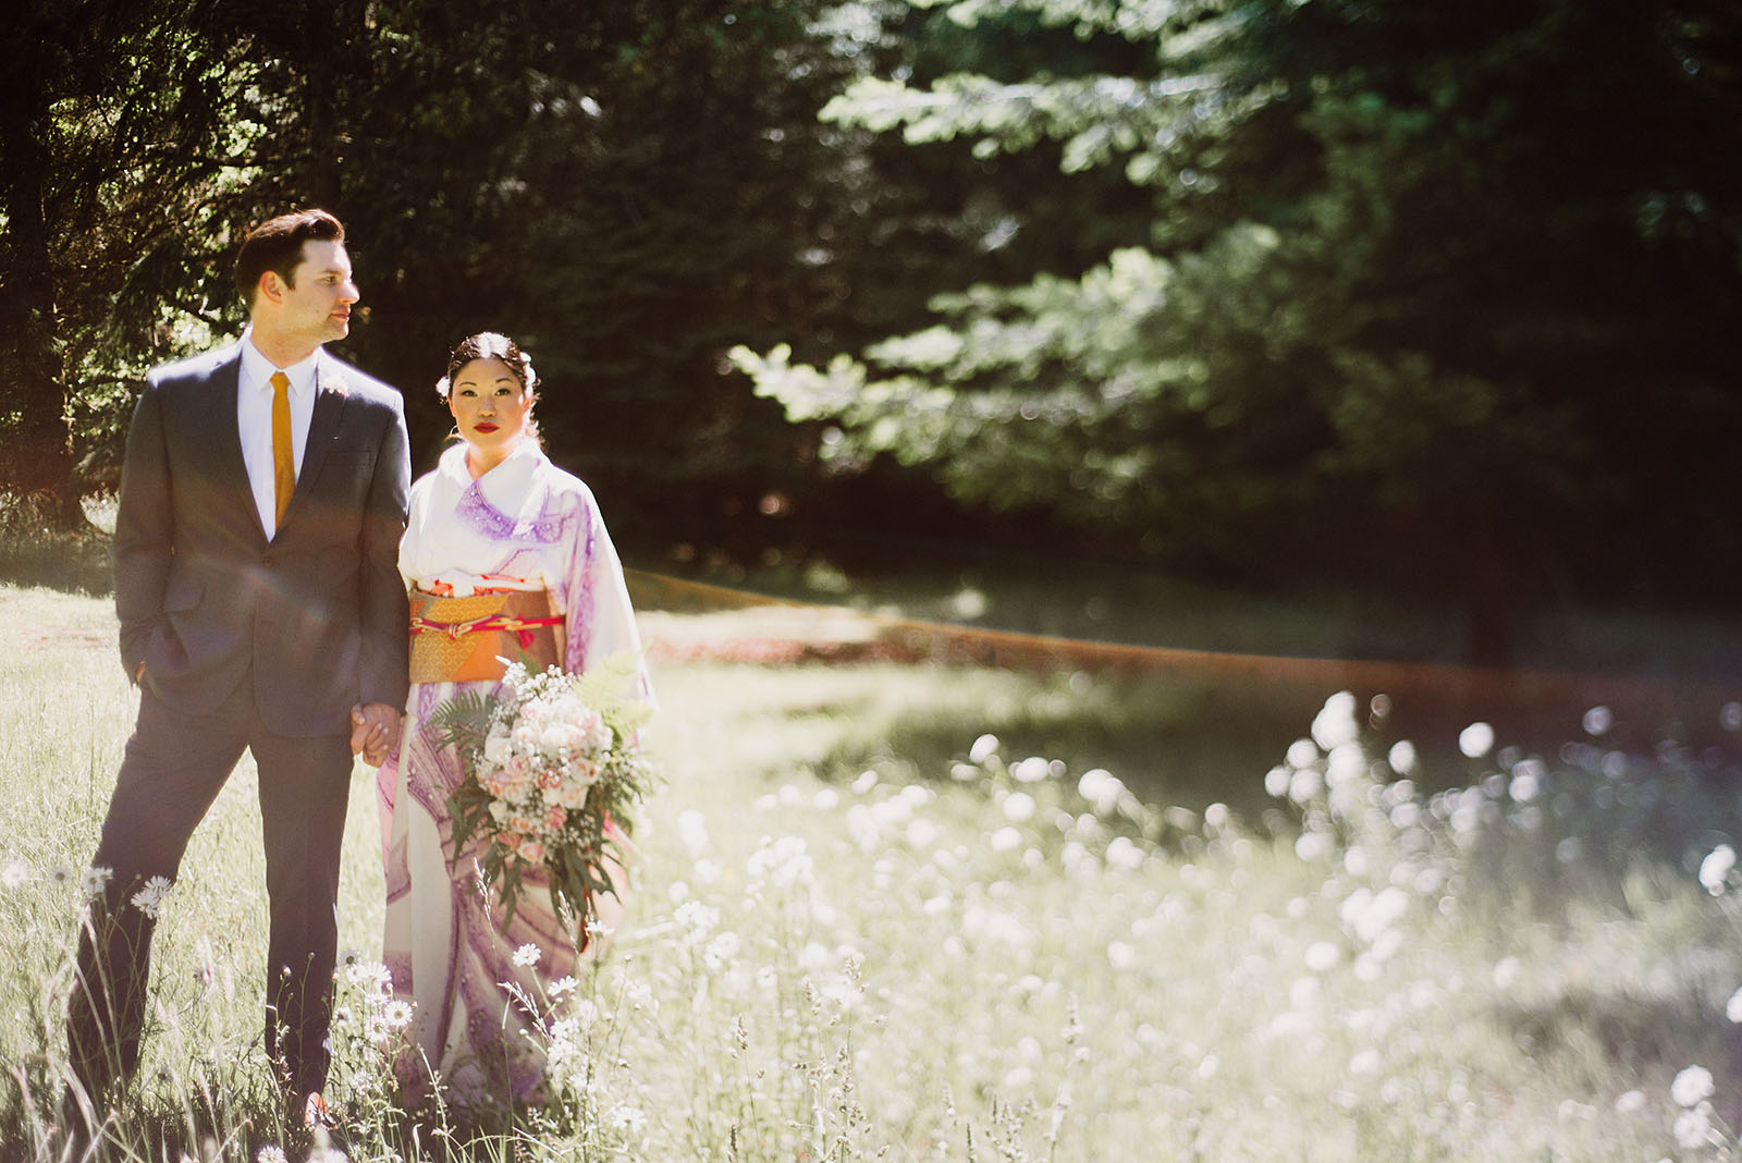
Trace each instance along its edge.
<instances>
[{"instance_id":1,"label":"dark grey suit jacket worn by the man","mask_svg":"<svg viewBox=\"0 0 1742 1163\"><path fill-rule=\"evenodd\" d=\"M242 463L232 345L146 376L115 519L115 613L127 676L209 714L253 670L280 735L348 731L352 703L402 707L399 538L411 477L404 402L321 352L296 493L267 541Z\"/></svg>"}]
</instances>

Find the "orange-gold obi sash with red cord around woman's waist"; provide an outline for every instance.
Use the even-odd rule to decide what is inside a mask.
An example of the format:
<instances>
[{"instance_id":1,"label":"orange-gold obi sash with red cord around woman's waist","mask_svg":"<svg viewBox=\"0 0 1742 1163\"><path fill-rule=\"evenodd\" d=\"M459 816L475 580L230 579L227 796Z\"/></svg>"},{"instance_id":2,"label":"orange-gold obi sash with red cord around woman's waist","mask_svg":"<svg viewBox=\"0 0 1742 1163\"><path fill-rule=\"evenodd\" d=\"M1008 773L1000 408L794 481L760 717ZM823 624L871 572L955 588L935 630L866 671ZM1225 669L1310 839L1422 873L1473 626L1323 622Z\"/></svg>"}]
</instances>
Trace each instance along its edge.
<instances>
[{"instance_id":1,"label":"orange-gold obi sash with red cord around woman's waist","mask_svg":"<svg viewBox=\"0 0 1742 1163\"><path fill-rule=\"evenodd\" d=\"M442 597L411 590L411 681L477 682L500 679L502 658L528 669L561 665L563 616L549 590L507 590Z\"/></svg>"}]
</instances>

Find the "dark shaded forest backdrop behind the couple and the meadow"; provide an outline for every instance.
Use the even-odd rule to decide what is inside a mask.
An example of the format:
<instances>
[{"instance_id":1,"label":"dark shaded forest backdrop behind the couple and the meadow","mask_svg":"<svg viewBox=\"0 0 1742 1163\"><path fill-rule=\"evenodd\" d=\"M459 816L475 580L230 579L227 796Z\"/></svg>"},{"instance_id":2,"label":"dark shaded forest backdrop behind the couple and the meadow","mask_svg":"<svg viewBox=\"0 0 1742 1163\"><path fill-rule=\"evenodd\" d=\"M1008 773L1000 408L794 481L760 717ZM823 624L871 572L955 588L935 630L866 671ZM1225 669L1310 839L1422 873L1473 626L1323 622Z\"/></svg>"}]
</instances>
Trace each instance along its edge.
<instances>
[{"instance_id":1,"label":"dark shaded forest backdrop behind the couple and the meadow","mask_svg":"<svg viewBox=\"0 0 1742 1163\"><path fill-rule=\"evenodd\" d=\"M0 489L68 526L145 369L240 329L247 226L319 204L415 468L507 331L652 568L1080 561L1484 663L1733 609L1730 3L40 0L0 42Z\"/></svg>"}]
</instances>

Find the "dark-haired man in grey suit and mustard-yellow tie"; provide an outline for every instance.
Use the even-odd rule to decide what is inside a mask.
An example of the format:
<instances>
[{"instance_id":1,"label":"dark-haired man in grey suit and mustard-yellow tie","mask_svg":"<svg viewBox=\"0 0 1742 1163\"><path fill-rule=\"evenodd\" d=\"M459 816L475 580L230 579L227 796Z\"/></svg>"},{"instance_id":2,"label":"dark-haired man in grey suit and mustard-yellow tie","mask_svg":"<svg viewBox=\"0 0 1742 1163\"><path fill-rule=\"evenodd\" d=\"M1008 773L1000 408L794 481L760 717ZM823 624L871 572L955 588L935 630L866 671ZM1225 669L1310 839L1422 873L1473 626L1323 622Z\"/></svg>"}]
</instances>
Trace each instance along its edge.
<instances>
[{"instance_id":1,"label":"dark-haired man in grey suit and mustard-yellow tie","mask_svg":"<svg viewBox=\"0 0 1742 1163\"><path fill-rule=\"evenodd\" d=\"M380 763L399 740L406 421L395 390L321 346L359 298L345 228L273 218L235 273L249 331L152 371L127 432L115 613L139 717L68 1006L85 1119L138 1066L159 902L244 749L267 848L267 1053L293 1116L324 1113L352 754Z\"/></svg>"}]
</instances>

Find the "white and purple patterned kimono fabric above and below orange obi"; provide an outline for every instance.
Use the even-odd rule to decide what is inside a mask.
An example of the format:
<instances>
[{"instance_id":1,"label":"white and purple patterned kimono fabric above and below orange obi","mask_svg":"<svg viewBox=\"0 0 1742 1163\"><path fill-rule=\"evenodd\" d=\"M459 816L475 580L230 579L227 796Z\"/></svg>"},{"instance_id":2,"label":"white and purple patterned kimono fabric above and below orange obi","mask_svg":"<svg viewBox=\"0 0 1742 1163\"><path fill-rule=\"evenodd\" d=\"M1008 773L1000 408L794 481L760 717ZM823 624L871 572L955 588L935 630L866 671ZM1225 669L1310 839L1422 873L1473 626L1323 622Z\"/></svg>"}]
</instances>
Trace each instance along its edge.
<instances>
[{"instance_id":1,"label":"white and purple patterned kimono fabric above and below orange obi","mask_svg":"<svg viewBox=\"0 0 1742 1163\"><path fill-rule=\"evenodd\" d=\"M584 672L622 649L641 649L622 564L604 531L592 491L557 468L526 439L479 479L465 465L465 444L449 447L434 472L411 486L411 517L399 571L422 590L465 597L476 587L547 588L563 616L563 665ZM413 1093L425 1093L439 1069L449 1099L523 1102L537 1099L544 1060L523 1003L575 971L585 952L552 909L547 883L528 876L514 921L486 909L472 858L455 865L448 792L460 782L453 749L439 750L423 728L456 691L493 693L500 682L413 682L401 749L381 764L376 790L387 865L383 963L394 992L413 1003L415 1053L402 1062ZM646 672L634 695L652 700ZM625 841L627 844L627 841ZM618 893L627 888L618 879ZM615 928L622 897L601 898L598 919ZM537 945L533 966L516 965L523 945Z\"/></svg>"}]
</instances>

